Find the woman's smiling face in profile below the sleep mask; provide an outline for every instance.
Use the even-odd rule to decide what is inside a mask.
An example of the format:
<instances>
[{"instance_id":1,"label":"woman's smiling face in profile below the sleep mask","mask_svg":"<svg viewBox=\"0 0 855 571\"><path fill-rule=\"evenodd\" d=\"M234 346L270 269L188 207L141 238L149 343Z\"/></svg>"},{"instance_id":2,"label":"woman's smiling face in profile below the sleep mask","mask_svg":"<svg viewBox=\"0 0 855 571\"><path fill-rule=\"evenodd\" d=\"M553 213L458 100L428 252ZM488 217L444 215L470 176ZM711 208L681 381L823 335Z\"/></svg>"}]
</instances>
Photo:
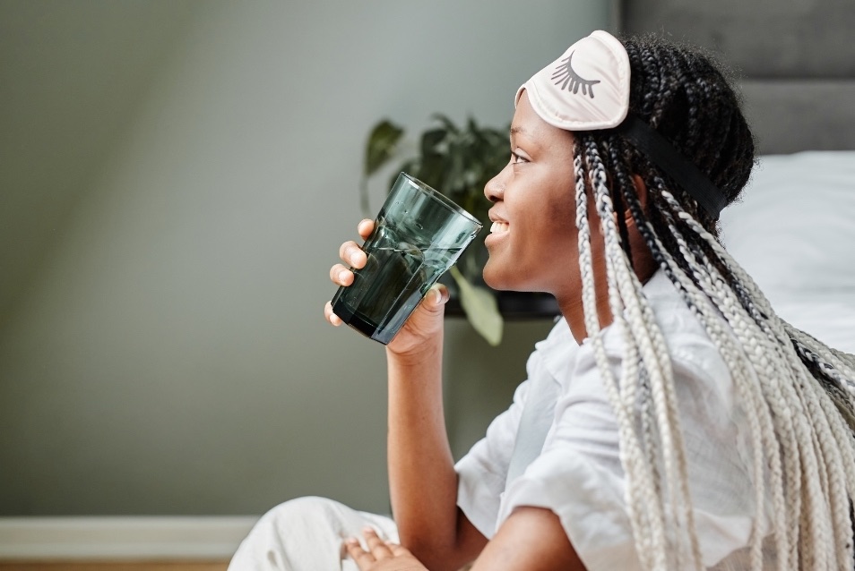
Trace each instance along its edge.
<instances>
[{"instance_id":1,"label":"woman's smiling face in profile below the sleep mask","mask_svg":"<svg viewBox=\"0 0 855 571\"><path fill-rule=\"evenodd\" d=\"M511 123L511 160L484 189L494 202L485 240L490 287L548 292L559 301L578 288L573 145L573 135L540 119L523 92Z\"/></svg>"}]
</instances>

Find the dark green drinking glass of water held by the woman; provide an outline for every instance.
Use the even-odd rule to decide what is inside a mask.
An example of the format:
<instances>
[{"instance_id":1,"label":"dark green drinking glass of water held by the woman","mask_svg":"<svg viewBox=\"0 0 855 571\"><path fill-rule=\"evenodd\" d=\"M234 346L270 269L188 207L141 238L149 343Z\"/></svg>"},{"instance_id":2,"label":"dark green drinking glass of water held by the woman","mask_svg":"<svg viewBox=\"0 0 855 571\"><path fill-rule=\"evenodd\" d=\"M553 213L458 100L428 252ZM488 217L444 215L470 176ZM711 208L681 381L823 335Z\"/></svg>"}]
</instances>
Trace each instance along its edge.
<instances>
[{"instance_id":1,"label":"dark green drinking glass of water held by the woman","mask_svg":"<svg viewBox=\"0 0 855 571\"><path fill-rule=\"evenodd\" d=\"M353 284L339 288L332 311L363 335L388 344L480 229L469 212L401 173L362 245L367 263L351 268Z\"/></svg>"}]
</instances>

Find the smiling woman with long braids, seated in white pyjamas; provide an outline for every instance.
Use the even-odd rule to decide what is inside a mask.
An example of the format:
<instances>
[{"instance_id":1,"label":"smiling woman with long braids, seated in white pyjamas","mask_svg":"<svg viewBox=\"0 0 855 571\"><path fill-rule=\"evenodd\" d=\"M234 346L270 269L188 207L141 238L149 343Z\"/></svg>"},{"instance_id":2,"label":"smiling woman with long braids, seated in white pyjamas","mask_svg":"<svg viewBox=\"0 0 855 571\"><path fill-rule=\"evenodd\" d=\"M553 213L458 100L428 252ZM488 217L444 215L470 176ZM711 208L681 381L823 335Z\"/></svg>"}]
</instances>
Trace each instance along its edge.
<instances>
[{"instance_id":1,"label":"smiling woman with long braids, seated in white pyjamas","mask_svg":"<svg viewBox=\"0 0 855 571\"><path fill-rule=\"evenodd\" d=\"M754 163L721 72L594 32L520 88L510 144L484 279L554 294L564 317L514 404L453 464L437 287L386 348L394 522L288 502L233 567L851 569L855 358L780 320L717 240ZM285 545L318 518L341 564ZM363 522L365 547L339 539Z\"/></svg>"}]
</instances>

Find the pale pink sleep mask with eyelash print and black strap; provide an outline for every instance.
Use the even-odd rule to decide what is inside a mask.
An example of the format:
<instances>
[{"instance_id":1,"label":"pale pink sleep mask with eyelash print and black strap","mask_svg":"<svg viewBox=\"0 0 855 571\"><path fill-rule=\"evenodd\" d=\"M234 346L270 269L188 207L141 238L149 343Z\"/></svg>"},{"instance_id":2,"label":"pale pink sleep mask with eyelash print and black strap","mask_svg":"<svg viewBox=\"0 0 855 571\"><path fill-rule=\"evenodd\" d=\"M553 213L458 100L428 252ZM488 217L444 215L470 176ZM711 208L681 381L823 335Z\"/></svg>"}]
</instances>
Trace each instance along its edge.
<instances>
[{"instance_id":1,"label":"pale pink sleep mask with eyelash print and black strap","mask_svg":"<svg viewBox=\"0 0 855 571\"><path fill-rule=\"evenodd\" d=\"M727 205L721 190L659 132L629 114L629 80L626 48L609 32L596 30L523 83L514 107L525 90L535 113L559 129L619 132L718 217Z\"/></svg>"}]
</instances>

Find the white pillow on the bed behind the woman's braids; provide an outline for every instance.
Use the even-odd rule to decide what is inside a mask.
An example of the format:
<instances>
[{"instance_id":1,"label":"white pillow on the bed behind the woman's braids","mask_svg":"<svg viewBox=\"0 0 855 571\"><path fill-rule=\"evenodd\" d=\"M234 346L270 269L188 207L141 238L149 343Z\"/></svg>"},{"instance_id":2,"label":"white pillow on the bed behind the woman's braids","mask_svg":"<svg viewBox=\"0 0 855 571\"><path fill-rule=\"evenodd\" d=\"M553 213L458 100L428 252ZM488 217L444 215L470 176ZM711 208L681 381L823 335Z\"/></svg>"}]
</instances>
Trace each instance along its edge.
<instances>
[{"instance_id":1,"label":"white pillow on the bed behind the woman's braids","mask_svg":"<svg viewBox=\"0 0 855 571\"><path fill-rule=\"evenodd\" d=\"M784 320L855 353L855 151L761 157L721 227Z\"/></svg>"}]
</instances>

